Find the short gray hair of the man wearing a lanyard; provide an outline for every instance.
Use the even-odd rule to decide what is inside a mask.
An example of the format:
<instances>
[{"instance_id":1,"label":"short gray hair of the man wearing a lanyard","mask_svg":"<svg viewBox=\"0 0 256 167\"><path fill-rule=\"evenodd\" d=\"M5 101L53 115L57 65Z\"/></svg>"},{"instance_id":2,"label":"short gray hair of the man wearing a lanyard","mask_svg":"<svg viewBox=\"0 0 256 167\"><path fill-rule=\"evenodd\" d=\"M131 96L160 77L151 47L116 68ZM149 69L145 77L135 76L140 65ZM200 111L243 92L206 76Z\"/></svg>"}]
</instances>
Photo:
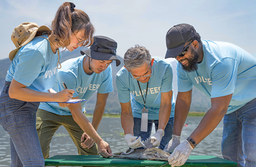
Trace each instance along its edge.
<instances>
[{"instance_id":1,"label":"short gray hair of the man wearing a lanyard","mask_svg":"<svg viewBox=\"0 0 256 167\"><path fill-rule=\"evenodd\" d=\"M145 62L150 64L151 55L144 46L135 45L135 47L131 47L124 54L124 65L128 70L139 68Z\"/></svg>"}]
</instances>

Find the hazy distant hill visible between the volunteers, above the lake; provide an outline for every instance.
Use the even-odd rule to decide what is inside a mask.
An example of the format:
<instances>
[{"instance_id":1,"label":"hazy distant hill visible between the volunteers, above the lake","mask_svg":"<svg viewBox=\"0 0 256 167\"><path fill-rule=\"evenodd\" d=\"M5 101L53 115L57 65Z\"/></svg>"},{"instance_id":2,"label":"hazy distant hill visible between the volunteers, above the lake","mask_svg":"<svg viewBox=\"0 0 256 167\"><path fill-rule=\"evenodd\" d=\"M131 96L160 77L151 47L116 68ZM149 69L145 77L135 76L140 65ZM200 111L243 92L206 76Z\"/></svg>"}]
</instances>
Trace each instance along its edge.
<instances>
[{"instance_id":1,"label":"hazy distant hill visible between the volunteers, above the lake","mask_svg":"<svg viewBox=\"0 0 256 167\"><path fill-rule=\"evenodd\" d=\"M62 56L61 56L60 62L62 63L70 58L81 56L80 54L81 49L83 50L86 48L79 47L72 52L69 52L67 50L63 51L61 53ZM112 63L112 78L113 78L114 91L109 93L105 113L121 113L121 107L118 100L118 93L117 93L115 79L116 79L117 72L123 67L124 64L123 64L123 58L120 56L117 56L117 57L121 61L121 64L118 67L116 67L115 62ZM177 96L176 61L171 61L171 63L172 63L173 72L174 72L173 84L174 84L174 96L176 99L176 96ZM11 61L8 58L0 60L0 90L2 90L2 87L4 85L5 76L10 64L11 64ZM193 99L192 99L192 105L191 105L190 111L207 112L209 110L211 106L210 99L207 98L203 93L201 93L195 87L193 88L192 97ZM95 102L96 102L96 93L94 93L92 97L87 101L86 108L85 108L87 113L93 113Z\"/></svg>"}]
</instances>

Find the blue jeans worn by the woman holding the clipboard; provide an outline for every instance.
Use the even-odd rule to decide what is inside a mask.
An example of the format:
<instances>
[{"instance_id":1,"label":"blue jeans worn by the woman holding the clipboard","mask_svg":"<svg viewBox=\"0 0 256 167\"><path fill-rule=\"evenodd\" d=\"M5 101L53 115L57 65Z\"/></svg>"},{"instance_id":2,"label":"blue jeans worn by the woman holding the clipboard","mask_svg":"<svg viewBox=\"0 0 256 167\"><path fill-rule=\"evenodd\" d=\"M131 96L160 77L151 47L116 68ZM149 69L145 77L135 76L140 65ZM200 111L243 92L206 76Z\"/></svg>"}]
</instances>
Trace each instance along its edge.
<instances>
[{"instance_id":1,"label":"blue jeans worn by the woman holding the clipboard","mask_svg":"<svg viewBox=\"0 0 256 167\"><path fill-rule=\"evenodd\" d=\"M11 167L44 167L35 128L39 103L11 99L9 85L5 81L0 95L0 125L10 136Z\"/></svg>"}]
</instances>

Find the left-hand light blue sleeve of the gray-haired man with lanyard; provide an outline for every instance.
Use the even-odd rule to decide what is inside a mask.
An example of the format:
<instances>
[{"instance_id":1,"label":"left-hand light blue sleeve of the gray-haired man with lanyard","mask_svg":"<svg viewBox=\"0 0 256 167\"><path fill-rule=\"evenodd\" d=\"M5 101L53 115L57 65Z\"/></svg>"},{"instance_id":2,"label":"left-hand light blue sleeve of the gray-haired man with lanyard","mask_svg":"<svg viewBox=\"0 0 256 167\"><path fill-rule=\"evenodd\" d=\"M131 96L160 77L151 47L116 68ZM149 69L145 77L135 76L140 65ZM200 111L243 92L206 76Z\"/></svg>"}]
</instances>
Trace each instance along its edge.
<instances>
[{"instance_id":1,"label":"left-hand light blue sleeve of the gray-haired man with lanyard","mask_svg":"<svg viewBox=\"0 0 256 167\"><path fill-rule=\"evenodd\" d=\"M116 87L118 91L118 99L120 103L128 103L131 101L130 89L126 86L125 82L121 79L121 75L116 76Z\"/></svg>"}]
</instances>

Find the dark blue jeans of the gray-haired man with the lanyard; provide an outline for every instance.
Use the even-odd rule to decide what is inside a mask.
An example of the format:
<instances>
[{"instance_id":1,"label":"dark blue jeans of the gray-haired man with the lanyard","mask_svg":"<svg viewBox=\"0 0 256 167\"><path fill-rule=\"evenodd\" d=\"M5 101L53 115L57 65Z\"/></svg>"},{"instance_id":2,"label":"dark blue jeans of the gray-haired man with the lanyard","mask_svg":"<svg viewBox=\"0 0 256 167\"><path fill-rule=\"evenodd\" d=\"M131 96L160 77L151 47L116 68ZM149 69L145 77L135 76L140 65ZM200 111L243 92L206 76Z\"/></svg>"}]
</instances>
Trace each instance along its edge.
<instances>
[{"instance_id":1,"label":"dark blue jeans of the gray-haired man with the lanyard","mask_svg":"<svg viewBox=\"0 0 256 167\"><path fill-rule=\"evenodd\" d=\"M151 135L151 130L152 130L152 125L155 123L155 130L158 130L158 120L148 120L148 132L141 132L140 131L140 126L141 126L141 118L134 118L134 127L133 127L133 134L134 136L141 137L141 140L144 141L148 139ZM173 134L173 121L174 117L170 118L166 127L165 127L165 136L163 136L159 149L164 150L165 145L172 139L172 134ZM139 148L143 149L143 147Z\"/></svg>"}]
</instances>

